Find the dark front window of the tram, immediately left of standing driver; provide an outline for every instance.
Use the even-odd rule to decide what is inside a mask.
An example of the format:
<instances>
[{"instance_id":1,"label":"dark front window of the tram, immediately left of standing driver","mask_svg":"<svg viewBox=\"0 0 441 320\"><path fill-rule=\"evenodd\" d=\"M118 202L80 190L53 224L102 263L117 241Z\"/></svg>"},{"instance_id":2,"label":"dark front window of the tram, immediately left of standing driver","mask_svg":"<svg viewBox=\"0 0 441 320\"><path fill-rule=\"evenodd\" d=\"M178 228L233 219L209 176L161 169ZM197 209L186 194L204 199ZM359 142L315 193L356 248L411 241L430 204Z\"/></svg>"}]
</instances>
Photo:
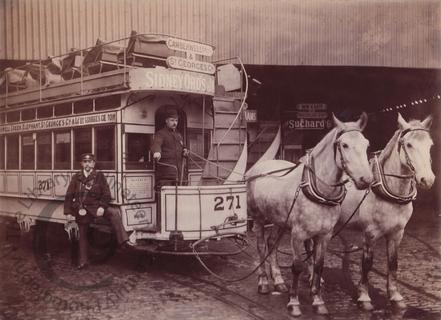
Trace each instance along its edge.
<instances>
[{"instance_id":1,"label":"dark front window of the tram, immediately left of standing driver","mask_svg":"<svg viewBox=\"0 0 441 320\"><path fill-rule=\"evenodd\" d=\"M126 169L153 169L149 161L149 150L153 135L145 133L126 133Z\"/></svg>"}]
</instances>

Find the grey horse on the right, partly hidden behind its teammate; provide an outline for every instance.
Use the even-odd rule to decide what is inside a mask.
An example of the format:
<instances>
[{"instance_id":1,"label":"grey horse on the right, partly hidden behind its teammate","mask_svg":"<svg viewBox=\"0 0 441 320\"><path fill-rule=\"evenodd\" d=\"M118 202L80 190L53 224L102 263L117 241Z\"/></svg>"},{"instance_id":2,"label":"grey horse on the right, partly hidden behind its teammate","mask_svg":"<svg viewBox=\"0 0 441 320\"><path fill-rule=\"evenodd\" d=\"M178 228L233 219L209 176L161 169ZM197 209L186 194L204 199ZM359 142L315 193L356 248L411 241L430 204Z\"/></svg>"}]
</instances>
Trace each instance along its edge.
<instances>
[{"instance_id":1,"label":"grey horse on the right, partly hidden behind its teammate","mask_svg":"<svg viewBox=\"0 0 441 320\"><path fill-rule=\"evenodd\" d=\"M361 226L364 235L358 303L365 310L373 306L368 293L368 273L373 264L373 247L382 237L387 243L387 292L392 305L405 308L397 288L398 247L416 198L416 186L429 189L435 180L431 169L429 129L432 117L406 122L398 114L398 127L386 147L371 160L374 183L350 224ZM349 219L364 192L348 189L342 203L341 222Z\"/></svg>"}]
</instances>

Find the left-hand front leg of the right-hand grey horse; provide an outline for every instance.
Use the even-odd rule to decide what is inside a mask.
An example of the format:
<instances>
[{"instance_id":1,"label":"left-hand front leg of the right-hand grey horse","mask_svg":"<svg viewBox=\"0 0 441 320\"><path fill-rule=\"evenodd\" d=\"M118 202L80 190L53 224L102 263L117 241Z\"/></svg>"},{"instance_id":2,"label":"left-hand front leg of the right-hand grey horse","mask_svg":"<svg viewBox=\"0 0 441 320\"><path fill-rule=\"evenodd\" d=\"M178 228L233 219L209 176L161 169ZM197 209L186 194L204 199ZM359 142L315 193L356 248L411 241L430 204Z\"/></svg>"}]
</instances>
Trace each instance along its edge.
<instances>
[{"instance_id":1,"label":"left-hand front leg of the right-hand grey horse","mask_svg":"<svg viewBox=\"0 0 441 320\"><path fill-rule=\"evenodd\" d=\"M369 271L372 269L374 262L374 250L373 241L368 235L365 234L363 246L363 255L361 257L361 279L358 284L358 306L366 311L371 311L374 306L371 303L369 297Z\"/></svg>"}]
</instances>

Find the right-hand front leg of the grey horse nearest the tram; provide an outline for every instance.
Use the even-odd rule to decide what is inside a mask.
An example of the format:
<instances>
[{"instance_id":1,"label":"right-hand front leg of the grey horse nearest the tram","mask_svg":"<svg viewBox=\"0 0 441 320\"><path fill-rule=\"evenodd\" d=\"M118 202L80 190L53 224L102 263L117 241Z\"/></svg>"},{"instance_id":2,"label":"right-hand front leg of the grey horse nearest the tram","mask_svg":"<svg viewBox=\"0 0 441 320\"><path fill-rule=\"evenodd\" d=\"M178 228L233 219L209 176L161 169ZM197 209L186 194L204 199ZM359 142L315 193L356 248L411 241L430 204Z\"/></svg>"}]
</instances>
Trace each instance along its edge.
<instances>
[{"instance_id":1,"label":"right-hand front leg of the grey horse nearest the tram","mask_svg":"<svg viewBox=\"0 0 441 320\"><path fill-rule=\"evenodd\" d=\"M318 314L328 314L321 294L323 266L325 264L325 252L331 240L331 233L314 239L314 268L311 281L312 306Z\"/></svg>"}]
</instances>

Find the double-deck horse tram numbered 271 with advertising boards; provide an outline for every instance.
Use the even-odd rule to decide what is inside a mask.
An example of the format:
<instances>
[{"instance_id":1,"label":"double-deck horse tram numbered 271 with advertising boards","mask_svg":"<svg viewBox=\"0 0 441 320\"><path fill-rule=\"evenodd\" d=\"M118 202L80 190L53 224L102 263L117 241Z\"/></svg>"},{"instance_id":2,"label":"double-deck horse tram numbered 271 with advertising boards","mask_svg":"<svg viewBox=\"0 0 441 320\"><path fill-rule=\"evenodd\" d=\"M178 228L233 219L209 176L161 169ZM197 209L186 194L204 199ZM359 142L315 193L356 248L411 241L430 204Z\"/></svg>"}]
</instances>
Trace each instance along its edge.
<instances>
[{"instance_id":1,"label":"double-deck horse tram numbered 271 with advertising boards","mask_svg":"<svg viewBox=\"0 0 441 320\"><path fill-rule=\"evenodd\" d=\"M111 205L138 248L188 254L195 241L243 235L247 77L238 58L208 62L213 51L133 32L7 69L0 96L0 215L17 218L21 229L48 221L75 234L63 201L80 155L94 153ZM155 192L159 164L149 150L169 105L179 113L190 156L178 185Z\"/></svg>"}]
</instances>

